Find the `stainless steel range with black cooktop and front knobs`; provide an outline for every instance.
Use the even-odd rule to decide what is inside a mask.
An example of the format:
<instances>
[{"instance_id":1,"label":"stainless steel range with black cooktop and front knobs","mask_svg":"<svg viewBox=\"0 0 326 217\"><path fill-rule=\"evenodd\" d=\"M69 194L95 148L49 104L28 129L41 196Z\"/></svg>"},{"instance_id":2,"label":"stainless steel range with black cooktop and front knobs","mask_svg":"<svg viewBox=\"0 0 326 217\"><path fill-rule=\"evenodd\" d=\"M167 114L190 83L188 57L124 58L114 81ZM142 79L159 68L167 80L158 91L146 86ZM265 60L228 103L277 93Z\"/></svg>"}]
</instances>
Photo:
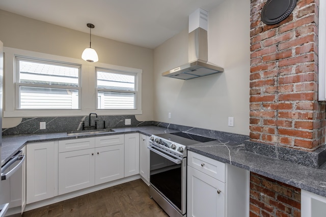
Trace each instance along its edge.
<instances>
[{"instance_id":1,"label":"stainless steel range with black cooktop and front knobs","mask_svg":"<svg viewBox=\"0 0 326 217\"><path fill-rule=\"evenodd\" d=\"M170 217L186 216L186 146L213 140L182 132L150 137L150 195Z\"/></svg>"}]
</instances>

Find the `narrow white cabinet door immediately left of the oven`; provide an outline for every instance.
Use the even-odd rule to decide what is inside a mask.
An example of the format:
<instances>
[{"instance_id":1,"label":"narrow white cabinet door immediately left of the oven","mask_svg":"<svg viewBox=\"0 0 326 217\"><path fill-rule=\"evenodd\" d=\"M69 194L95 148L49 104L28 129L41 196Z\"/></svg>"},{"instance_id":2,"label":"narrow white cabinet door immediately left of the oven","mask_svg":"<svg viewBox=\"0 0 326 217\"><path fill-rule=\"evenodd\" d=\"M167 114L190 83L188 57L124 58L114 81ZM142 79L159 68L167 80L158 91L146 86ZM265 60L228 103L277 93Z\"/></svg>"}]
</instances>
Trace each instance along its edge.
<instances>
[{"instance_id":1,"label":"narrow white cabinet door immediately left of the oven","mask_svg":"<svg viewBox=\"0 0 326 217\"><path fill-rule=\"evenodd\" d=\"M149 184L149 136L140 134L139 139L139 173Z\"/></svg>"}]
</instances>

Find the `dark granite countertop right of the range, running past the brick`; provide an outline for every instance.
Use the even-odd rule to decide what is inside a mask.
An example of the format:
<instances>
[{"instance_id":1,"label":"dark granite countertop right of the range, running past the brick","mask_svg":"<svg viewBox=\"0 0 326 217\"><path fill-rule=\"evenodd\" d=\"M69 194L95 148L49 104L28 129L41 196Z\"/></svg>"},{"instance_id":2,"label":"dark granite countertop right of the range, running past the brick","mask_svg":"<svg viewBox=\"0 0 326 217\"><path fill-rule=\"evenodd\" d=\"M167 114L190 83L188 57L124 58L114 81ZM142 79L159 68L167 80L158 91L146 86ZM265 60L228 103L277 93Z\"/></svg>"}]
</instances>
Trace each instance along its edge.
<instances>
[{"instance_id":1,"label":"dark granite countertop right of the range, running past the brick","mask_svg":"<svg viewBox=\"0 0 326 217\"><path fill-rule=\"evenodd\" d=\"M211 141L187 146L188 150L214 160L258 173L294 187L326 197L326 169L298 165L244 150L244 144Z\"/></svg>"}]
</instances>

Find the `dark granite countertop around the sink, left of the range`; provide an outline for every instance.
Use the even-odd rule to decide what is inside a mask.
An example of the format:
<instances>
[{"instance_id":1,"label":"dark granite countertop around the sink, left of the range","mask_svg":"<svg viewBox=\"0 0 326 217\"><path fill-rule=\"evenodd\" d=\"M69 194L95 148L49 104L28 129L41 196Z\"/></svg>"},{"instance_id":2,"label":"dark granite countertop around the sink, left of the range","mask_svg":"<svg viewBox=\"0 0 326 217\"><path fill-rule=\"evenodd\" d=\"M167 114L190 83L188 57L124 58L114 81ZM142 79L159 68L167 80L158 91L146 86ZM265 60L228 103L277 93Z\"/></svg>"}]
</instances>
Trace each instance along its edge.
<instances>
[{"instance_id":1,"label":"dark granite countertop around the sink, left of the range","mask_svg":"<svg viewBox=\"0 0 326 217\"><path fill-rule=\"evenodd\" d=\"M130 127L130 128L117 128L113 129L114 132L106 132L92 135L80 135L80 136L68 136L67 133L51 133L51 134L29 134L29 135L18 135L18 136L4 136L2 138L1 148L1 165L3 166L8 160L10 160L24 145L33 142L45 142L52 140L66 140L66 139L77 139L95 136L108 136L115 134L125 133L142 133L147 136L152 134L161 133L175 133L176 130L167 128L161 128L156 126L143 126L143 127Z\"/></svg>"}]
</instances>

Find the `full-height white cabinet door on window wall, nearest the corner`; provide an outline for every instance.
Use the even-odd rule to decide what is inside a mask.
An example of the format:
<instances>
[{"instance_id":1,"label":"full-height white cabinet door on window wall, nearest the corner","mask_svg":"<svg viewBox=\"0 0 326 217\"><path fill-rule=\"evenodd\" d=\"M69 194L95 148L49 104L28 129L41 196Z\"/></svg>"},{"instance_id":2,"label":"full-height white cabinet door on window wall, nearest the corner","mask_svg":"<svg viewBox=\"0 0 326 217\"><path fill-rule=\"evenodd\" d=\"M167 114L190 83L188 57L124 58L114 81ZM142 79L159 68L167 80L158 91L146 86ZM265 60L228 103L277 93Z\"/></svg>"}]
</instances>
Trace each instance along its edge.
<instances>
[{"instance_id":1,"label":"full-height white cabinet door on window wall, nearest the corner","mask_svg":"<svg viewBox=\"0 0 326 217\"><path fill-rule=\"evenodd\" d=\"M139 133L124 136L124 176L139 174Z\"/></svg>"}]
</instances>

